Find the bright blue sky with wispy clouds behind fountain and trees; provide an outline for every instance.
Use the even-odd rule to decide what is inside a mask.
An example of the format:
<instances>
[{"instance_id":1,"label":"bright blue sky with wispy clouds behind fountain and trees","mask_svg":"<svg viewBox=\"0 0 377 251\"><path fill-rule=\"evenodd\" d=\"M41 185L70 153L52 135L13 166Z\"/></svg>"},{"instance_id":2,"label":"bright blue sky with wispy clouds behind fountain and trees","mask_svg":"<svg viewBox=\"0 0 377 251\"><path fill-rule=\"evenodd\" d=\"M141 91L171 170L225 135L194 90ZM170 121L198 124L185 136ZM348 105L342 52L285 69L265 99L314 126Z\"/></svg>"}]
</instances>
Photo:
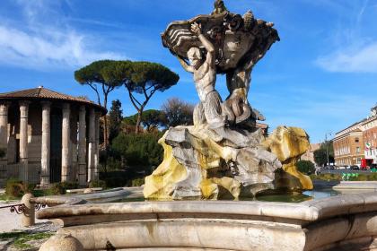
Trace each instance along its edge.
<instances>
[{"instance_id":1,"label":"bright blue sky with wispy clouds behind fountain and trees","mask_svg":"<svg viewBox=\"0 0 377 251\"><path fill-rule=\"evenodd\" d=\"M274 22L281 41L252 73L250 104L277 125L304 128L311 142L369 114L377 102L377 0L225 0L232 13L252 10ZM94 60L158 62L180 82L156 93L147 108L179 97L198 101L160 33L172 21L210 13L212 0L2 0L0 92L46 88L95 100L74 71ZM216 89L226 97L224 77ZM110 94L126 115L136 112L125 89Z\"/></svg>"}]
</instances>

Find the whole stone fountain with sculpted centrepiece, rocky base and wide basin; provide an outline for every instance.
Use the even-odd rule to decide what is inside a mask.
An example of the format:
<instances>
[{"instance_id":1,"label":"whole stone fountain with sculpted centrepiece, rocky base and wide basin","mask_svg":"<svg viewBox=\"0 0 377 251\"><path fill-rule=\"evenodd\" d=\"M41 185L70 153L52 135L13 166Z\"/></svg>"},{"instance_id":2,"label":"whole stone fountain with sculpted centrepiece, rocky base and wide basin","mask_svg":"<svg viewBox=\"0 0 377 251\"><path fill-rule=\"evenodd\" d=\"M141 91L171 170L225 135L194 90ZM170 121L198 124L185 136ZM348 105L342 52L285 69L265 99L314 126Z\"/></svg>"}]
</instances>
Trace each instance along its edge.
<instances>
[{"instance_id":1,"label":"whole stone fountain with sculpted centrepiece, rocky base and wide basin","mask_svg":"<svg viewBox=\"0 0 377 251\"><path fill-rule=\"evenodd\" d=\"M278 39L272 23L230 13L219 0L211 14L172 22L163 45L194 74L200 103L194 125L170 128L160 140L164 159L144 188L153 200L36 198L63 203L37 214L62 226L40 250L377 250L376 193L303 203L216 200L312 188L295 167L308 135L279 126L265 137L256 126L264 117L247 99L253 66ZM226 74L224 101L217 74Z\"/></svg>"}]
</instances>

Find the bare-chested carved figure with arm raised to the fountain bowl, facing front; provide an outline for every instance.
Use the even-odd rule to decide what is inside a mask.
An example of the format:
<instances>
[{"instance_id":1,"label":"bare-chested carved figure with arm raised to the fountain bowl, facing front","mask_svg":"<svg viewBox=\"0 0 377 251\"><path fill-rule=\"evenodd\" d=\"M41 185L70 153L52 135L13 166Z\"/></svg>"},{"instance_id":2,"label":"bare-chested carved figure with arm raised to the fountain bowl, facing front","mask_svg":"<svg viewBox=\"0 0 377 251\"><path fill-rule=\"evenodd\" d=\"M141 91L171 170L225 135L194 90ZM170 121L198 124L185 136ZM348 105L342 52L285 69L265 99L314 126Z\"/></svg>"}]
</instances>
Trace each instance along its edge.
<instances>
[{"instance_id":1,"label":"bare-chested carved figure with arm raised to the fountain bowl, facing front","mask_svg":"<svg viewBox=\"0 0 377 251\"><path fill-rule=\"evenodd\" d=\"M199 48L190 48L188 51L189 64L178 57L180 65L194 74L194 82L199 95L200 103L194 110L194 125L207 123L211 128L224 126L225 117L222 115L222 100L219 93L215 90L216 67L215 67L215 47L202 34L201 28L197 23L191 24L191 31L206 48L206 57Z\"/></svg>"}]
</instances>

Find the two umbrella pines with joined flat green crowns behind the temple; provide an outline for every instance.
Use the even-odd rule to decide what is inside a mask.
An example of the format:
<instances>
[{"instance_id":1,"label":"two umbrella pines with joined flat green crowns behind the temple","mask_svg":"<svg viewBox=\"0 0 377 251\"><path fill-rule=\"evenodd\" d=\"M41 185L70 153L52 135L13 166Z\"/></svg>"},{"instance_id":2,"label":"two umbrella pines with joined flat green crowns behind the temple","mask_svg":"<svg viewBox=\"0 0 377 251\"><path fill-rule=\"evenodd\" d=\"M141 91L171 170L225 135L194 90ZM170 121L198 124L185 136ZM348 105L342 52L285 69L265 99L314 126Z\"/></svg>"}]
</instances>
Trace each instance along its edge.
<instances>
[{"instance_id":1,"label":"two umbrella pines with joined flat green crowns behind the temple","mask_svg":"<svg viewBox=\"0 0 377 251\"><path fill-rule=\"evenodd\" d=\"M99 84L104 95L103 103L105 108L110 91L124 85L127 89L129 99L138 113L136 120L137 134L143 110L154 92L165 91L171 88L171 86L180 80L180 76L157 63L145 61L133 62L129 60L100 60L75 71L75 80L81 84L89 85L97 93L98 103L101 105L100 91L97 87L97 84ZM143 100L137 100L136 93L142 94ZM107 129L105 126L104 135L107 135L106 132Z\"/></svg>"}]
</instances>

